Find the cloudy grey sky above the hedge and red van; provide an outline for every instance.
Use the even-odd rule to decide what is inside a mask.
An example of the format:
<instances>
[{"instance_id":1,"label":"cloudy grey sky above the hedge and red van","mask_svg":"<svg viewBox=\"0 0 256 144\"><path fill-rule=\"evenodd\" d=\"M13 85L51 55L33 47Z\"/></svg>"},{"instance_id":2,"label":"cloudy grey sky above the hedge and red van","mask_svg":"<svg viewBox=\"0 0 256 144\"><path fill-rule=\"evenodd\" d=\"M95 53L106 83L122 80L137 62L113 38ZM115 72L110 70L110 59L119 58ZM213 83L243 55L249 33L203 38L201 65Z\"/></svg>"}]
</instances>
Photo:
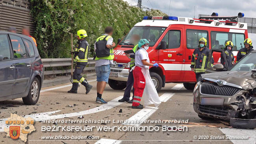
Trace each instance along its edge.
<instances>
[{"instance_id":1,"label":"cloudy grey sky above the hedge and red van","mask_svg":"<svg viewBox=\"0 0 256 144\"><path fill-rule=\"evenodd\" d=\"M124 1L133 6L138 3L138 0ZM241 12L245 17L256 17L256 0L142 0L142 5L176 17L194 18L194 8L195 18L198 14L211 15L213 12L219 16L237 16Z\"/></svg>"}]
</instances>

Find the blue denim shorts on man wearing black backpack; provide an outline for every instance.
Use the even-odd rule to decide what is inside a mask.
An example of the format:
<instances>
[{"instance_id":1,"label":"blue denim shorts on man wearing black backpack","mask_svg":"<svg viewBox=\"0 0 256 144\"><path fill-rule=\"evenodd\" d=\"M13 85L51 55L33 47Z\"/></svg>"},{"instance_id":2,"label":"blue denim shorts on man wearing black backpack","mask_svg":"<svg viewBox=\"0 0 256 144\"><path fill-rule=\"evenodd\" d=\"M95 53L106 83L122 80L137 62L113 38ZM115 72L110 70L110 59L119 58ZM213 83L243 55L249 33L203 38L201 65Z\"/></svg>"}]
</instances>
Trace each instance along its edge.
<instances>
[{"instance_id":1,"label":"blue denim shorts on man wearing black backpack","mask_svg":"<svg viewBox=\"0 0 256 144\"><path fill-rule=\"evenodd\" d=\"M97 76L97 81L106 81L106 83L108 83L110 65L96 66L95 72Z\"/></svg>"}]
</instances>

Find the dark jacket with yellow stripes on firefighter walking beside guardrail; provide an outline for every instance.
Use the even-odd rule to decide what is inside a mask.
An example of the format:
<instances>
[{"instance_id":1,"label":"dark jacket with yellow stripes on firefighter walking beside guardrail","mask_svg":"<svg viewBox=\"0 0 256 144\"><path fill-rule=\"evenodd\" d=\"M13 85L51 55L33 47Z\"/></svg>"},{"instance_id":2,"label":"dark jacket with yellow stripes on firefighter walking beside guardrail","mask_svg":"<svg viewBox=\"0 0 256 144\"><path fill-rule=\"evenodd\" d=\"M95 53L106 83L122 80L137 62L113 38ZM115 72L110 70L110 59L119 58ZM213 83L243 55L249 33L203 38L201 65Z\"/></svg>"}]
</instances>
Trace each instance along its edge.
<instances>
[{"instance_id":1,"label":"dark jacket with yellow stripes on firefighter walking beside guardrail","mask_svg":"<svg viewBox=\"0 0 256 144\"><path fill-rule=\"evenodd\" d=\"M85 39L78 41L78 47L75 49L74 62L81 65L87 65L89 44Z\"/></svg>"}]
</instances>

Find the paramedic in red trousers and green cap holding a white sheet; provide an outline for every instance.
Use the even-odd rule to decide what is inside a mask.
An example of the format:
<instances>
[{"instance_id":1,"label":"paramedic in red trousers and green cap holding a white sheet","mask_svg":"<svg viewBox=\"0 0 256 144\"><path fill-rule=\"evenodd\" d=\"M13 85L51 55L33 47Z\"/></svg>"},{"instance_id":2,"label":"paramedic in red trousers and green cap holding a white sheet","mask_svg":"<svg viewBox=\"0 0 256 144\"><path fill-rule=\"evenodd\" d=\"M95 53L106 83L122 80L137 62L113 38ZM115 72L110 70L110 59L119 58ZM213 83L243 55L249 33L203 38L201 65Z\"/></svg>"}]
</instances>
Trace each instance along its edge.
<instances>
[{"instance_id":1,"label":"paramedic in red trousers and green cap holding a white sheet","mask_svg":"<svg viewBox=\"0 0 256 144\"><path fill-rule=\"evenodd\" d=\"M132 68L134 75L133 109L143 109L143 105L140 104L142 97L144 106L154 104L158 107L161 103L148 70L149 66L158 67L158 64L149 63L148 45L147 39L141 39L138 42L139 50L135 53L135 66Z\"/></svg>"}]
</instances>

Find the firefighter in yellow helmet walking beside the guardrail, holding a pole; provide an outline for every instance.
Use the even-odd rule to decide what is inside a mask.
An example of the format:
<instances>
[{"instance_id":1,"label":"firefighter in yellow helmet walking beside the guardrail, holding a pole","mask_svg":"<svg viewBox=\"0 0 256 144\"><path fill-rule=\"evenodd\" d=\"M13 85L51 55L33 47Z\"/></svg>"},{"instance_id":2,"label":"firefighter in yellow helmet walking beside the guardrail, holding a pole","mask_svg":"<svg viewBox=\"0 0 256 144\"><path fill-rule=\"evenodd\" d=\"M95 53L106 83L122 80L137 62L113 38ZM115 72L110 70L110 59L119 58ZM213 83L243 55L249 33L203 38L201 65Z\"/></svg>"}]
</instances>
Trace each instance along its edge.
<instances>
[{"instance_id":1,"label":"firefighter in yellow helmet walking beside the guardrail, holding a pole","mask_svg":"<svg viewBox=\"0 0 256 144\"><path fill-rule=\"evenodd\" d=\"M83 72L83 68L87 65L88 62L88 52L89 52L89 44L85 40L87 37L87 33L85 30L79 30L76 34L78 38L78 47L74 51L74 62L76 63L75 71L73 75L73 85L71 90L68 93L77 93L79 82L85 86L86 92L88 94L89 91L93 88L92 85L89 85L87 80L81 76Z\"/></svg>"}]
</instances>

